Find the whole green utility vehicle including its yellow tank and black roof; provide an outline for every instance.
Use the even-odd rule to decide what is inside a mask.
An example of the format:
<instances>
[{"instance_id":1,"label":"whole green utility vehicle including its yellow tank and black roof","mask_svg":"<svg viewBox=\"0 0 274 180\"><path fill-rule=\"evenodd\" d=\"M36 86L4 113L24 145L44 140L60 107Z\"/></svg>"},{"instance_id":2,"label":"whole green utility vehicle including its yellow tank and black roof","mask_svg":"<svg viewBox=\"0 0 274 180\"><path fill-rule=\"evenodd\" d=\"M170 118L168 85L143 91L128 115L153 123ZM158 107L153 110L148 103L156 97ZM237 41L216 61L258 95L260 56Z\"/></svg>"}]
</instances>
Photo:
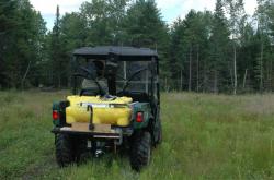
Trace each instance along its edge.
<instances>
[{"instance_id":1,"label":"whole green utility vehicle including its yellow tank and black roof","mask_svg":"<svg viewBox=\"0 0 274 180\"><path fill-rule=\"evenodd\" d=\"M84 47L73 51L71 67L73 95L53 105L58 165L119 149L129 152L133 169L149 165L162 140L157 52Z\"/></svg>"}]
</instances>

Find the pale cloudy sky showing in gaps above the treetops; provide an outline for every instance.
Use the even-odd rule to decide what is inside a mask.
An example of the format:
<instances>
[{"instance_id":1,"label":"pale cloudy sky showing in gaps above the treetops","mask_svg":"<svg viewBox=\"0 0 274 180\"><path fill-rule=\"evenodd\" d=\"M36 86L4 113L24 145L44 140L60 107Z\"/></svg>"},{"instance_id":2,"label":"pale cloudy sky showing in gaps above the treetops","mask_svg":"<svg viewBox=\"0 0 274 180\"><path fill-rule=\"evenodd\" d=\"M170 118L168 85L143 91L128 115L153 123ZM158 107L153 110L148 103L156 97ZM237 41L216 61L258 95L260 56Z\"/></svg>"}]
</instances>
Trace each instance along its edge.
<instances>
[{"instance_id":1,"label":"pale cloudy sky showing in gaps above the treetops","mask_svg":"<svg viewBox=\"0 0 274 180\"><path fill-rule=\"evenodd\" d=\"M87 0L31 0L34 9L39 11L50 29L54 25L56 7L59 4L60 14L66 12L78 11L81 3ZM256 8L256 0L243 0L246 12L252 15ZM184 19L191 9L196 11L214 11L216 0L156 0L158 8L161 10L163 20L172 23L179 16Z\"/></svg>"}]
</instances>

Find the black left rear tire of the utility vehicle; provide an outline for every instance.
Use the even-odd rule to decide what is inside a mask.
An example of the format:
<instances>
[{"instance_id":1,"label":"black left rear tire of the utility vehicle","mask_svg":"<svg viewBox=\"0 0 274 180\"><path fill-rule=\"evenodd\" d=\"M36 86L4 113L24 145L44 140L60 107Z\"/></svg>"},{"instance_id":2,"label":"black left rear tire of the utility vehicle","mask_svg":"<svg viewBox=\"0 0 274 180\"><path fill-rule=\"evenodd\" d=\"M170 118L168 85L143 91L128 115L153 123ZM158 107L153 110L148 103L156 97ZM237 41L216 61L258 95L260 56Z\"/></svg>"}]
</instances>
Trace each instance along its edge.
<instances>
[{"instance_id":1,"label":"black left rear tire of the utility vehicle","mask_svg":"<svg viewBox=\"0 0 274 180\"><path fill-rule=\"evenodd\" d=\"M73 140L67 134L56 134L56 160L60 167L75 161Z\"/></svg>"}]
</instances>

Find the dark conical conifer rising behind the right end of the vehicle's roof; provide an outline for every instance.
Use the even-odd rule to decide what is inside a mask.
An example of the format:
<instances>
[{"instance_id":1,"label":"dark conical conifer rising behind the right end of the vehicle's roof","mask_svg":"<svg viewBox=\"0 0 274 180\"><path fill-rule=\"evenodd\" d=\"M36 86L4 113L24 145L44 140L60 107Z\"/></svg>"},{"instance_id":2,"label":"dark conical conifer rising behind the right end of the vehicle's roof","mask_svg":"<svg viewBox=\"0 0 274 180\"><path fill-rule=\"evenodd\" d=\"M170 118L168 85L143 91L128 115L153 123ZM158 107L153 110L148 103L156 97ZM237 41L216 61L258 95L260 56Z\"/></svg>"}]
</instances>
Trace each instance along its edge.
<instances>
[{"instance_id":1,"label":"dark conical conifer rising behind the right end of the vehicle's roof","mask_svg":"<svg viewBox=\"0 0 274 180\"><path fill-rule=\"evenodd\" d=\"M160 71L163 79L169 77L168 26L161 19L161 13L153 0L137 0L127 10L124 21L126 40L124 45L147 47L159 51Z\"/></svg>"}]
</instances>

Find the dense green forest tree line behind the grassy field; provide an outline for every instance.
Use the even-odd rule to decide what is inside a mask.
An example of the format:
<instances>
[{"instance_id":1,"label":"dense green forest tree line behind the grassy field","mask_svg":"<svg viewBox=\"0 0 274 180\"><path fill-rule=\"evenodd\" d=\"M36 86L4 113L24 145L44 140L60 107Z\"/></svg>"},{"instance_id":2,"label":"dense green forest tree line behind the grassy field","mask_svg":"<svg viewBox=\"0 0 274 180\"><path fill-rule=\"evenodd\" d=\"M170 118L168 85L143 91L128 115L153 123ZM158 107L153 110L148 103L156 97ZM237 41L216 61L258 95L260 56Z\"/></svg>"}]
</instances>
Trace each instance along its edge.
<instances>
[{"instance_id":1,"label":"dense green forest tree line behind the grassy field","mask_svg":"<svg viewBox=\"0 0 274 180\"><path fill-rule=\"evenodd\" d=\"M156 49L165 91L274 91L274 4L258 0L251 17L243 2L216 0L214 12L167 24L155 0L91 0L57 10L46 32L28 0L0 1L0 88L69 87L75 48L114 45Z\"/></svg>"}]
</instances>

